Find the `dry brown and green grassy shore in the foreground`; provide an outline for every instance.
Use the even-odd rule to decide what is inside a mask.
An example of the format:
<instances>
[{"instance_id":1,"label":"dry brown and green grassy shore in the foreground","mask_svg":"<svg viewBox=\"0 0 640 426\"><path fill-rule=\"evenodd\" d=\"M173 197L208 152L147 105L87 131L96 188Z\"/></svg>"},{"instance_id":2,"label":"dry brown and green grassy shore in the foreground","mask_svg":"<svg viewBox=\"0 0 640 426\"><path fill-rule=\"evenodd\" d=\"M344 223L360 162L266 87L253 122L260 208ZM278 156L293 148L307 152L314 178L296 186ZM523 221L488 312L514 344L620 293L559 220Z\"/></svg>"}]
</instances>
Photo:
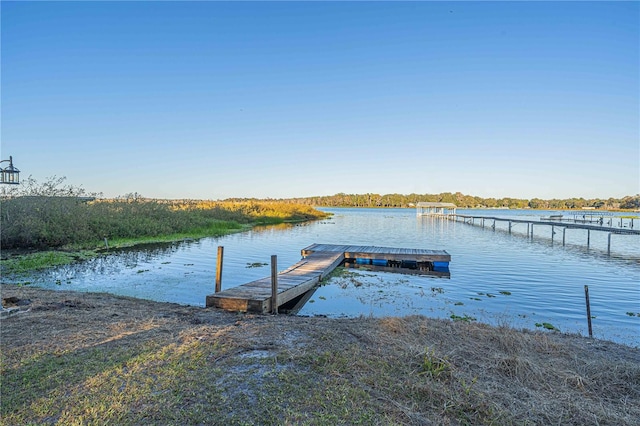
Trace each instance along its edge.
<instances>
[{"instance_id":1,"label":"dry brown and green grassy shore in the foreground","mask_svg":"<svg viewBox=\"0 0 640 426\"><path fill-rule=\"evenodd\" d=\"M640 351L477 323L253 316L2 286L1 424L612 424Z\"/></svg>"}]
</instances>

